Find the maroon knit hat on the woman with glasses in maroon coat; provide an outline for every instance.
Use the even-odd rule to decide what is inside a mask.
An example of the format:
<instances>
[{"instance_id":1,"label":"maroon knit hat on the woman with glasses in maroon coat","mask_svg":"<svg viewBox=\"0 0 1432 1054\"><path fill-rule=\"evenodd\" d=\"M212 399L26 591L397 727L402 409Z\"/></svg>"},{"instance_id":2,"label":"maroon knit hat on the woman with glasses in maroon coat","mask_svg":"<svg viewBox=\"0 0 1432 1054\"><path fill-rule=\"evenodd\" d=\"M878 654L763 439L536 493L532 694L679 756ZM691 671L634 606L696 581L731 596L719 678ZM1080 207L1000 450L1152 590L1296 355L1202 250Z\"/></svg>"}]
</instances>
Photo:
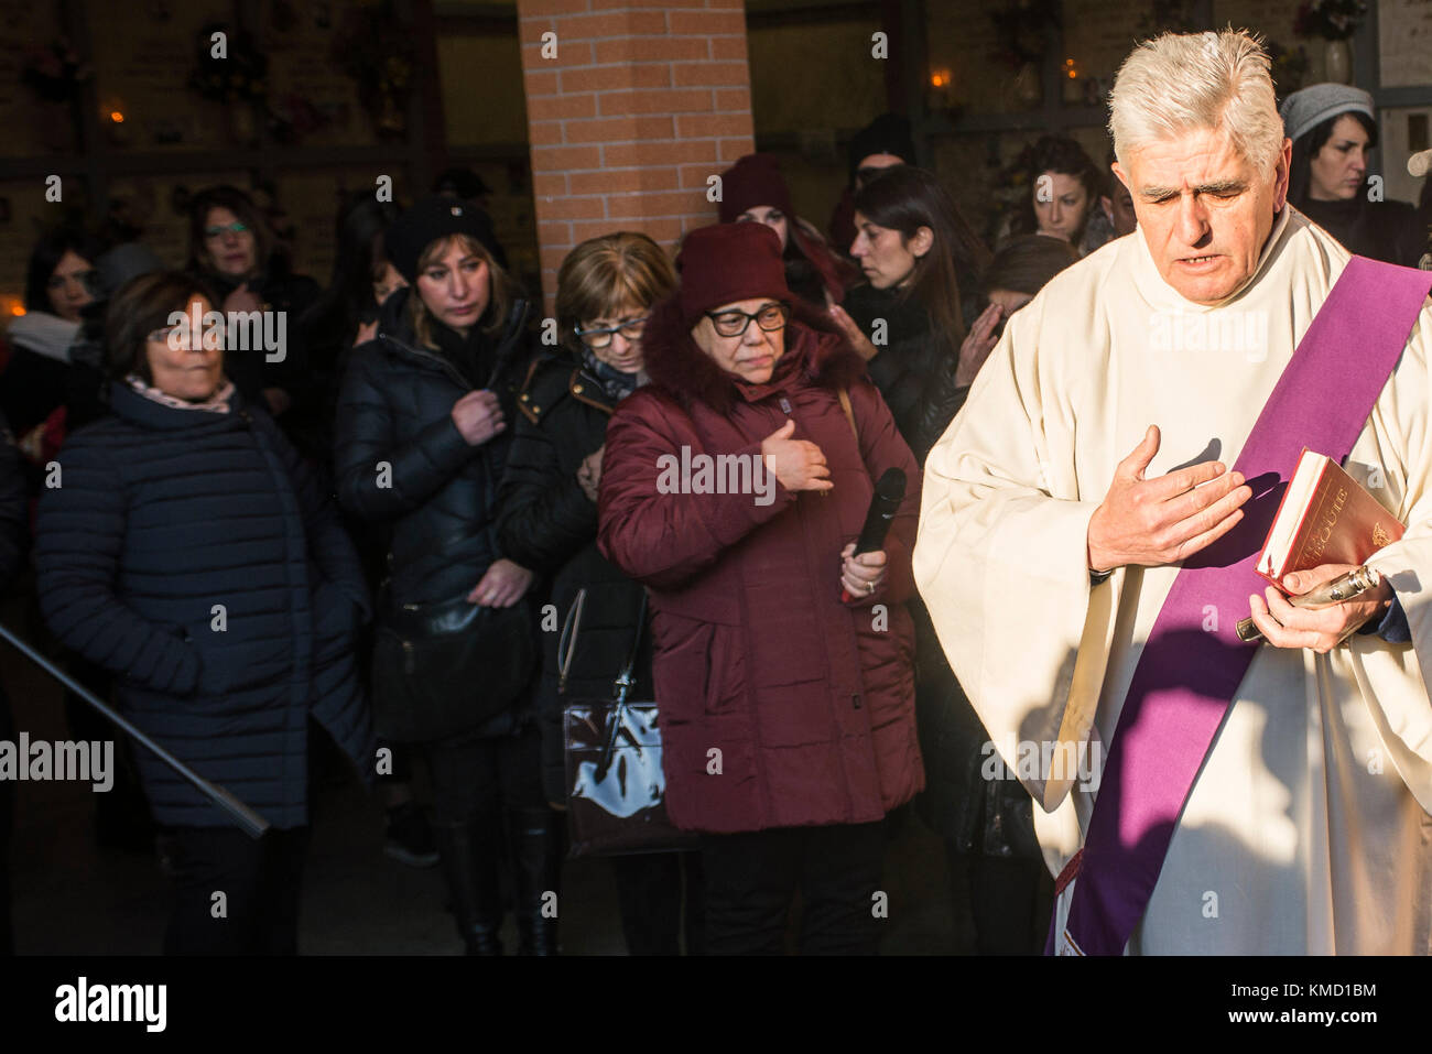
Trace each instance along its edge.
<instances>
[{"instance_id":1,"label":"maroon knit hat on the woman with glasses in maroon coat","mask_svg":"<svg viewBox=\"0 0 1432 1054\"><path fill-rule=\"evenodd\" d=\"M716 223L686 235L676 258L682 274L677 301L690 329L702 312L723 304L769 296L790 302L780 236L765 223Z\"/></svg>"}]
</instances>

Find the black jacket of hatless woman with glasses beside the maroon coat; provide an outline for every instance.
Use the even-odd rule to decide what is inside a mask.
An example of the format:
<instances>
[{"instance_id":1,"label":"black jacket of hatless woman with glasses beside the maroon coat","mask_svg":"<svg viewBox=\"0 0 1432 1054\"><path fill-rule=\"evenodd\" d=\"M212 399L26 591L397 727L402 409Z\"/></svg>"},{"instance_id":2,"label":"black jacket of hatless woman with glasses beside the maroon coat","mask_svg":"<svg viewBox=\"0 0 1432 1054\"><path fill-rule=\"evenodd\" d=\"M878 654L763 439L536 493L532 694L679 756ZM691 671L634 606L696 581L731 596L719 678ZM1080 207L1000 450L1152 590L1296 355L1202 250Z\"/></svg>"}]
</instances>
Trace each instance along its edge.
<instances>
[{"instance_id":1,"label":"black jacket of hatless woman with glasses beside the maroon coat","mask_svg":"<svg viewBox=\"0 0 1432 1054\"><path fill-rule=\"evenodd\" d=\"M537 713L543 735L543 786L564 802L561 707L567 700L611 695L636 634L642 587L597 550L597 506L577 484L583 458L606 443L616 402L569 355L544 355L518 398L517 435L503 477L497 536L524 567L551 574L550 603L560 632L543 633ZM577 596L581 594L580 611ZM558 690L558 644L571 663ZM652 642L643 636L632 699L650 699Z\"/></svg>"}]
</instances>

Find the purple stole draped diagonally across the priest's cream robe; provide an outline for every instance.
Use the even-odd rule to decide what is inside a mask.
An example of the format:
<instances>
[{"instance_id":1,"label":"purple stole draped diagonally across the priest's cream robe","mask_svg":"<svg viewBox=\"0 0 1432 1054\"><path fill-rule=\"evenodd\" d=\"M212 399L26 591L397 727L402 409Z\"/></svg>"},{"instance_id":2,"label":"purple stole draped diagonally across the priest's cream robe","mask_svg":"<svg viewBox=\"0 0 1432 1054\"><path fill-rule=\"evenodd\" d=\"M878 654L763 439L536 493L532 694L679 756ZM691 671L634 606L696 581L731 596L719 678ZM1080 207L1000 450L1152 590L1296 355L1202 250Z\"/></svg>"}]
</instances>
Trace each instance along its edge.
<instances>
[{"instance_id":1,"label":"purple stole draped diagonally across the priest's cream robe","mask_svg":"<svg viewBox=\"0 0 1432 1054\"><path fill-rule=\"evenodd\" d=\"M1206 606L1243 613L1249 594L1263 591L1253 569L1299 454L1306 445L1339 464L1348 457L1429 288L1432 272L1353 256L1285 367L1233 465L1249 483L1276 475L1277 485L1259 495L1254 484L1243 523L1174 579L1124 697L1084 848L1060 876L1061 889L1077 881L1064 932L1051 925L1045 954L1057 945L1068 954L1123 954L1257 653L1237 639L1234 617L1206 632ZM1220 554L1232 560L1239 548L1242 559L1210 563Z\"/></svg>"}]
</instances>

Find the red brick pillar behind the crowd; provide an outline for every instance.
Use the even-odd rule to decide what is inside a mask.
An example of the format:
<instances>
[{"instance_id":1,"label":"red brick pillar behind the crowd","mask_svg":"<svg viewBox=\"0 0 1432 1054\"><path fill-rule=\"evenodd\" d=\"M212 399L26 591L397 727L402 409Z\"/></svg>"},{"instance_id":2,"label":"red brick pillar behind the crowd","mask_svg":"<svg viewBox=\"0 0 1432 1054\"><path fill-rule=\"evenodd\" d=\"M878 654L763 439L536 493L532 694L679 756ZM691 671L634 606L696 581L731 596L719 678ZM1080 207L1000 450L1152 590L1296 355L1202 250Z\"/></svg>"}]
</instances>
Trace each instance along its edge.
<instances>
[{"instance_id":1,"label":"red brick pillar behind the crowd","mask_svg":"<svg viewBox=\"0 0 1432 1054\"><path fill-rule=\"evenodd\" d=\"M579 242L640 231L674 248L716 221L707 178L753 149L746 13L742 0L517 0L517 13L551 315Z\"/></svg>"}]
</instances>

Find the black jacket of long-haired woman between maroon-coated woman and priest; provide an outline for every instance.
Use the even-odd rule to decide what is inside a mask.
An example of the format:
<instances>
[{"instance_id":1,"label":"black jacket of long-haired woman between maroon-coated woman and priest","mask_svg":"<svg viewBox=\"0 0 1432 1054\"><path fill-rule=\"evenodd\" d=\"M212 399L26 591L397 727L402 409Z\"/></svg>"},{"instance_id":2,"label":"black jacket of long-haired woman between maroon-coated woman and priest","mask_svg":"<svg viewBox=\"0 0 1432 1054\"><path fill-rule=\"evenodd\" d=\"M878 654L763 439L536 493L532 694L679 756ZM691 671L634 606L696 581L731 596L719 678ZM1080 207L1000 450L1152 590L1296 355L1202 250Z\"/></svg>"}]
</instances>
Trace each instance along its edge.
<instances>
[{"instance_id":1,"label":"black jacket of long-haired woman between maroon-coated woman and priest","mask_svg":"<svg viewBox=\"0 0 1432 1054\"><path fill-rule=\"evenodd\" d=\"M959 357L949 355L932 338L929 312L892 289L856 286L845 295L842 306L879 349L868 365L871 379L924 467L925 455L969 394L968 387L955 384ZM884 327L878 325L881 319Z\"/></svg>"}]
</instances>

